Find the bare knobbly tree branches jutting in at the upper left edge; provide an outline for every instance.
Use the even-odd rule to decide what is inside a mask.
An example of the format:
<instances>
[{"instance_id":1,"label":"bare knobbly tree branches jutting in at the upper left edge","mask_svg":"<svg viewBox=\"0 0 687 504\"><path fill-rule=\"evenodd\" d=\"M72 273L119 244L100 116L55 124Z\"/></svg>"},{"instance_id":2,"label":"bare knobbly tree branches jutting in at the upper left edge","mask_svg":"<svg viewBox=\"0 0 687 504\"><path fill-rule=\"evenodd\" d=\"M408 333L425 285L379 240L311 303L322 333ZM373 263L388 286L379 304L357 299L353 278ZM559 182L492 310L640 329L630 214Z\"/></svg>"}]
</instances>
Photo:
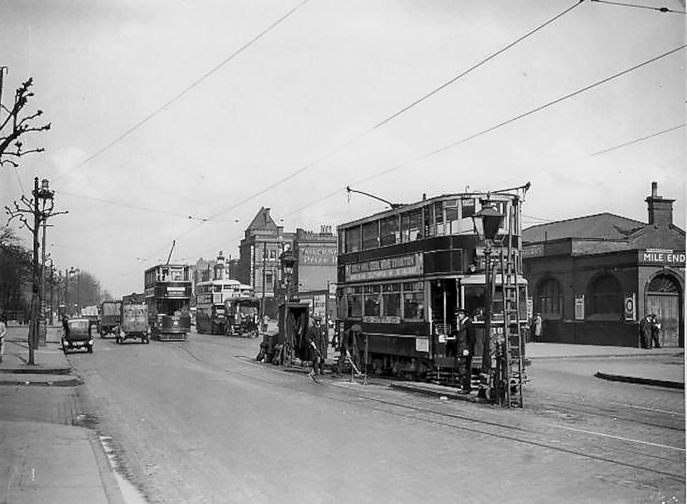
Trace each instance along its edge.
<instances>
[{"instance_id":1,"label":"bare knobbly tree branches jutting in at the upper left edge","mask_svg":"<svg viewBox=\"0 0 687 504\"><path fill-rule=\"evenodd\" d=\"M2 100L2 80L5 67L0 67L0 168L10 165L18 168L17 162L20 157L31 152L43 152L43 148L25 149L21 140L27 133L34 131L47 131L50 123L36 125L36 119L43 115L40 109L34 113L27 113L25 107L33 98L34 93L31 87L34 83L33 78L22 82L19 89L14 93L14 105L4 106ZM4 117L3 117L4 116Z\"/></svg>"}]
</instances>

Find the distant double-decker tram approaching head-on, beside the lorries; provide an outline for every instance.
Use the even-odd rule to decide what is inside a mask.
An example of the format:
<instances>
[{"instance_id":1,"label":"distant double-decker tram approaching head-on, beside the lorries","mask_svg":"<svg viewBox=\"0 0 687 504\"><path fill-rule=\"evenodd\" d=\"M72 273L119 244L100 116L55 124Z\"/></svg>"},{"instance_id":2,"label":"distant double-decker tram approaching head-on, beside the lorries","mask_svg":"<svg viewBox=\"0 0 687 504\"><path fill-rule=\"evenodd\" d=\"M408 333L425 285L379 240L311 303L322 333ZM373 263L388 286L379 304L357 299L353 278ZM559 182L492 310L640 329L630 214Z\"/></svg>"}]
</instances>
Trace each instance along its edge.
<instances>
[{"instance_id":1,"label":"distant double-decker tram approaching head-on, beside the lorries","mask_svg":"<svg viewBox=\"0 0 687 504\"><path fill-rule=\"evenodd\" d=\"M159 264L144 276L148 323L153 339L183 341L191 329L190 266Z\"/></svg>"}]
</instances>

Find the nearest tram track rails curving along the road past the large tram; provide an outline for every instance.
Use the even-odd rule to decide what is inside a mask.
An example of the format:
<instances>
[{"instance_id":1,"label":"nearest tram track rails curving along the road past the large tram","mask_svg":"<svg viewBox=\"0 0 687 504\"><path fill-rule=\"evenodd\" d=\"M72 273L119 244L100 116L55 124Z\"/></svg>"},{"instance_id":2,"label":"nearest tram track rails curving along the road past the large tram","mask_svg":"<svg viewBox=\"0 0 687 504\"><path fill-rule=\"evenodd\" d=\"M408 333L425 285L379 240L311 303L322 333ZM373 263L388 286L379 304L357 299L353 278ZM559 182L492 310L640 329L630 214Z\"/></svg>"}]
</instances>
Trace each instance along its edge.
<instances>
[{"instance_id":1,"label":"nearest tram track rails curving along the road past the large tram","mask_svg":"<svg viewBox=\"0 0 687 504\"><path fill-rule=\"evenodd\" d=\"M206 343L206 342L203 342ZM225 346L219 345L218 343L209 343L213 346ZM221 371L223 373L232 373L243 376L252 381L258 381L264 385L269 385L271 387L282 387L284 389L293 389L287 383L275 383L273 380L267 378L258 377L255 374L249 374L246 371L238 371L236 369L227 369L221 365L216 365L209 360L201 357L199 352L194 352L190 350L186 345L179 347L179 350L183 350L188 357L195 360L200 365L205 367L210 367L216 371ZM234 356L238 360L242 360L242 356ZM244 363L245 364L245 363ZM276 369L275 369L276 370ZM651 442L645 442L642 439L631 439L627 437L619 437L615 435L609 435L607 433L592 433L599 435L601 437L606 436L603 442L598 439L594 443L589 442L590 431L585 431L582 429L565 430L566 426L556 425L556 424L541 424L540 426L545 426L549 429L549 432L543 433L541 428L527 428L523 426L515 426L512 424L505 424L503 422L495 422L493 420L484 420L476 418L470 415L459 415L457 413L449 411L437 411L436 405L434 408L429 408L425 406L416 406L414 404L407 404L405 402L398 402L391 399L382 399L379 396L370 396L368 393L361 393L360 391L354 391L353 397L342 397L339 394L334 393L324 393L321 396L327 398L330 401L340 402L343 404L350 404L352 406L360 406L361 401L368 403L371 406L370 409L373 411L379 411L380 413L387 413L390 415L395 415L398 417L404 417L409 420L414 420L418 422L425 422L427 424L440 426L442 428L449 428L456 431L469 432L477 435L484 435L487 437L493 437L495 439L507 440L508 442L514 442L518 444L523 444L527 446L533 446L537 448L543 448L546 450L552 450L556 453L565 453L567 455L573 455L576 457L584 457L587 459L601 461L604 463L613 463L618 466L623 466L625 468L631 468L633 470L642 470L650 472L652 474L660 475L661 477L666 477L673 479L675 481L684 483L684 465L681 466L681 462L684 464L684 449L677 448L675 446L666 446L655 444ZM565 401L552 401L551 404L566 404L566 407L570 407L570 402ZM620 404L620 403L618 403ZM633 405L627 405L632 407ZM673 414L673 412L668 412ZM605 413L594 413L596 415L604 415ZM645 423L645 422L644 422ZM656 426L655 424L649 424L655 428L671 428ZM679 430L679 429L675 429ZM684 429L683 429L684 430ZM563 439L563 431L567 434L567 439ZM578 432L576 432L578 431ZM545 442L543 437L556 437L560 435L561 439L552 439L549 442ZM574 437L570 439L570 437ZM585 443L587 446L584 446ZM632 446L644 446L646 448L636 449L627 448L622 446L622 444L631 444ZM563 445L566 446L563 446ZM666 450L668 453L679 454L675 457L666 457L661 454L651 453L651 450ZM596 453L595 453L596 452ZM608 455L608 453L617 453L617 457L613 455ZM627 455L632 455L640 459L644 459L644 463L632 463L626 461ZM676 466L679 472L670 472L668 470L663 470L662 468L655 467L657 464L668 463L671 466Z\"/></svg>"}]
</instances>

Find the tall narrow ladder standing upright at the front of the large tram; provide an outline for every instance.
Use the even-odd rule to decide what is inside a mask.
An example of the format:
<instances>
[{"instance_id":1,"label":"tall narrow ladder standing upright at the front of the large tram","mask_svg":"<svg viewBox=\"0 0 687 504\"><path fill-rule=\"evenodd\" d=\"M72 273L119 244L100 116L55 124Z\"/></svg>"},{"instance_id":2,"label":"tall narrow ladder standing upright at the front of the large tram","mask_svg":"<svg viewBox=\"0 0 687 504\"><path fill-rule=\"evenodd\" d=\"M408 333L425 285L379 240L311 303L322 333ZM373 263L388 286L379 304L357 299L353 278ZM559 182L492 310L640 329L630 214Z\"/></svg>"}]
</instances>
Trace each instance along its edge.
<instances>
[{"instance_id":1,"label":"tall narrow ladder standing upright at the front of the large tram","mask_svg":"<svg viewBox=\"0 0 687 504\"><path fill-rule=\"evenodd\" d=\"M501 280L504 297L504 348L502 356L502 378L504 380L505 402L509 408L523 407L522 385L526 380L524 362L524 328L520 323L521 257L517 249L508 242L501 249Z\"/></svg>"}]
</instances>

